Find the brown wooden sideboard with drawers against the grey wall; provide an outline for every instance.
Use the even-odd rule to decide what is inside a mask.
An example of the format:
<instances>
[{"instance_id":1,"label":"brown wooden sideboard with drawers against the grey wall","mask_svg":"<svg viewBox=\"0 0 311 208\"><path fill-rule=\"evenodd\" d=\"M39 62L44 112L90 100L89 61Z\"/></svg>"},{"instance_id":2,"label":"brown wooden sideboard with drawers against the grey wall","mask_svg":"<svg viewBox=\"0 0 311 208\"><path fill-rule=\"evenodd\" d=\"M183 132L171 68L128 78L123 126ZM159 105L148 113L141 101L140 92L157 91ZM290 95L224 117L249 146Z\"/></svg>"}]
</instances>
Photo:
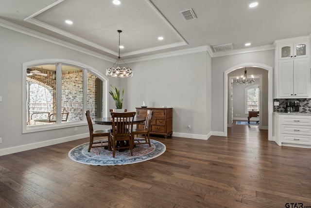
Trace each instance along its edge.
<instances>
[{"instance_id":1,"label":"brown wooden sideboard with drawers against the grey wall","mask_svg":"<svg viewBox=\"0 0 311 208\"><path fill-rule=\"evenodd\" d=\"M136 116L146 118L147 110L152 110L150 134L164 135L167 138L173 133L173 108L136 108ZM144 128L139 124L138 128Z\"/></svg>"}]
</instances>

